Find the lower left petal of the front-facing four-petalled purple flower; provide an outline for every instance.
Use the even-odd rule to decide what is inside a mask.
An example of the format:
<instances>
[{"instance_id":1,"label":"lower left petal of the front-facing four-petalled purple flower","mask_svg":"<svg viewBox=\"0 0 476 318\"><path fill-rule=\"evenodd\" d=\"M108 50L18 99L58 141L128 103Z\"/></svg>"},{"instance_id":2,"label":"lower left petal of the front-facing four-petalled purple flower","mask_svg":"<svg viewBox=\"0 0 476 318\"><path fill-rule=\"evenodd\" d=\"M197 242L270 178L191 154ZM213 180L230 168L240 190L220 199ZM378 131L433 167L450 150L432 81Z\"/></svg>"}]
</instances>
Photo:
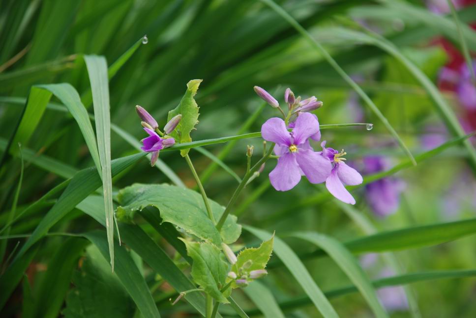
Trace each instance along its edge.
<instances>
[{"instance_id":1,"label":"lower left petal of the front-facing four-petalled purple flower","mask_svg":"<svg viewBox=\"0 0 476 318\"><path fill-rule=\"evenodd\" d=\"M298 162L294 154L287 153L279 157L278 164L269 173L271 185L278 191L288 191L301 180Z\"/></svg>"}]
</instances>

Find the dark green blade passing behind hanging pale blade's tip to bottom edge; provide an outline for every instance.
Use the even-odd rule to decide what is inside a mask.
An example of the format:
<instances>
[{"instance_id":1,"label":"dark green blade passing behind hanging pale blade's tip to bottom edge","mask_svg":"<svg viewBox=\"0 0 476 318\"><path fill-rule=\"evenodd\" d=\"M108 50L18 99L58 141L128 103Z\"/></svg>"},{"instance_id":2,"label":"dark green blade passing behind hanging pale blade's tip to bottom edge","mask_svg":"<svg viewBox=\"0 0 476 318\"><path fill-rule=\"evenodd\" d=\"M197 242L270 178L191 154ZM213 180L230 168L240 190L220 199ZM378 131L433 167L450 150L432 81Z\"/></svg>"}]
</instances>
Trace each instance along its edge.
<instances>
[{"instance_id":1,"label":"dark green blade passing behind hanging pale blade's tip to bottom edge","mask_svg":"<svg viewBox=\"0 0 476 318\"><path fill-rule=\"evenodd\" d=\"M94 231L86 233L84 236L96 245L104 259L109 261L109 246L105 233L102 231ZM114 244L116 245L116 253L114 255L116 268L114 272L122 283L122 286L124 286L125 290L132 297L142 316L145 318L160 317L159 311L150 294L149 287L139 271L139 268L137 268L137 265L124 247L119 246L117 241L115 241Z\"/></svg>"}]
</instances>

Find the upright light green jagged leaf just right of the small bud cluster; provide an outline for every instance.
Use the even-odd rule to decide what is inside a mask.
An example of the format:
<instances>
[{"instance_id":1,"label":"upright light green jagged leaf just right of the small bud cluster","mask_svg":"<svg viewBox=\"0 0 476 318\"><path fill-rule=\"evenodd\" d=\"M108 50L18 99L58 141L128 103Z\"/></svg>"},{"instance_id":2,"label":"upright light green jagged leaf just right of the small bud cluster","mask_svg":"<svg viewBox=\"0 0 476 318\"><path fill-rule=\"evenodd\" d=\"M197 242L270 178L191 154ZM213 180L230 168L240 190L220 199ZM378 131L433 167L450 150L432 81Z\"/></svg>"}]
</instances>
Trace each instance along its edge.
<instances>
[{"instance_id":1,"label":"upright light green jagged leaf just right of the small bud cluster","mask_svg":"<svg viewBox=\"0 0 476 318\"><path fill-rule=\"evenodd\" d=\"M190 132L195 129L195 125L198 124L198 109L200 108L193 98L198 91L198 87L203 79L192 79L187 83L187 90L180 100L179 106L175 107L169 111L169 116L167 121L171 120L174 116L181 114L182 119L180 120L177 128L170 133L172 137L175 138L177 143L190 142L192 137L190 137ZM180 150L180 155L185 157L189 152L189 149Z\"/></svg>"}]
</instances>

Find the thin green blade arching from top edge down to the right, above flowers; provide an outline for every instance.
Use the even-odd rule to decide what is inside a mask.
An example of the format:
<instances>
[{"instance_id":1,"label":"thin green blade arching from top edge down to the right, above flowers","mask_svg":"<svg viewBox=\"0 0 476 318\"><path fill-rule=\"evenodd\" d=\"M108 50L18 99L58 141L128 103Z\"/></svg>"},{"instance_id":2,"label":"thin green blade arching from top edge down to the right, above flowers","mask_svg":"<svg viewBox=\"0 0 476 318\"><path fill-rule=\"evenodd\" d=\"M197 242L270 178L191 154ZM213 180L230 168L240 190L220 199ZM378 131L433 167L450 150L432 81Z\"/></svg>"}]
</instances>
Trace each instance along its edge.
<instances>
[{"instance_id":1,"label":"thin green blade arching from top edge down to the right, above flowers","mask_svg":"<svg viewBox=\"0 0 476 318\"><path fill-rule=\"evenodd\" d=\"M374 104L374 102L370 99L370 97L360 88L360 86L349 76L347 73L340 67L340 65L330 56L329 53L321 46L319 42L314 39L309 32L306 31L304 27L302 27L298 21L296 21L289 13L287 13L282 7L277 5L273 0L260 0L261 2L268 5L271 9L273 9L277 14L279 14L283 19L285 19L291 26L293 26L299 34L301 34L309 44L316 49L322 56L327 60L327 62L332 66L332 68L351 86L357 94L362 98L363 101L369 106L372 112L382 121L384 126L387 128L388 132L395 138L395 140L400 145L400 148L407 154L408 158L412 160L413 164L416 165L417 162L413 158L410 149L408 149L407 145L403 142L400 138L398 133L395 129L390 125L387 118L382 114L379 108Z\"/></svg>"}]
</instances>

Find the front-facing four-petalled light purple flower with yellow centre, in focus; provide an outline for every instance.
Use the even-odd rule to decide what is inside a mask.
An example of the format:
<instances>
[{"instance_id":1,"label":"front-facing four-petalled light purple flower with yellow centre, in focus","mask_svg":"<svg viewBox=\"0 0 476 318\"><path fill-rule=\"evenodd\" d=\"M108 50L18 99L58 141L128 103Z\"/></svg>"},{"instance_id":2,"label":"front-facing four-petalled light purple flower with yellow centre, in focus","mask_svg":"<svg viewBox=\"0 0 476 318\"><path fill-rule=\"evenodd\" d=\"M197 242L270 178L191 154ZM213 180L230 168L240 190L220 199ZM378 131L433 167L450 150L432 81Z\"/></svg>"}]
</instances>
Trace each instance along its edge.
<instances>
[{"instance_id":1,"label":"front-facing four-petalled light purple flower with yellow centre, in focus","mask_svg":"<svg viewBox=\"0 0 476 318\"><path fill-rule=\"evenodd\" d=\"M265 140L276 143L275 153L280 156L278 164L269 174L271 185L278 191L295 187L305 175L309 182L324 182L332 168L330 162L313 151L308 139L319 132L319 122L309 113L296 119L293 132L288 132L281 118L270 118L261 127Z\"/></svg>"}]
</instances>

